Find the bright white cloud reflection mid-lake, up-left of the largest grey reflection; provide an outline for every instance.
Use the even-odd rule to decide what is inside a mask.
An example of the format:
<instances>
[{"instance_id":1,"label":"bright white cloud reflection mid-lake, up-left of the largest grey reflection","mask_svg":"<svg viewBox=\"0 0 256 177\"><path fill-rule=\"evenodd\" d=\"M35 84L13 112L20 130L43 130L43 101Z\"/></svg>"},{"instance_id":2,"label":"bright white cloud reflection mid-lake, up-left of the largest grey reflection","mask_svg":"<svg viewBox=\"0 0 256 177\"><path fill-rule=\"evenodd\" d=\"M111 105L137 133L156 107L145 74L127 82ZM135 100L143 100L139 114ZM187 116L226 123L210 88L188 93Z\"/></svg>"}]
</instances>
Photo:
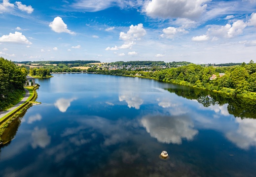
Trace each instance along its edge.
<instances>
[{"instance_id":1,"label":"bright white cloud reflection mid-lake, up-left of the largest grey reflection","mask_svg":"<svg viewBox=\"0 0 256 177\"><path fill-rule=\"evenodd\" d=\"M135 109L140 109L140 106L143 103L143 99L141 99L139 96L134 96L132 93L119 95L119 101L125 101L129 108Z\"/></svg>"}]
</instances>

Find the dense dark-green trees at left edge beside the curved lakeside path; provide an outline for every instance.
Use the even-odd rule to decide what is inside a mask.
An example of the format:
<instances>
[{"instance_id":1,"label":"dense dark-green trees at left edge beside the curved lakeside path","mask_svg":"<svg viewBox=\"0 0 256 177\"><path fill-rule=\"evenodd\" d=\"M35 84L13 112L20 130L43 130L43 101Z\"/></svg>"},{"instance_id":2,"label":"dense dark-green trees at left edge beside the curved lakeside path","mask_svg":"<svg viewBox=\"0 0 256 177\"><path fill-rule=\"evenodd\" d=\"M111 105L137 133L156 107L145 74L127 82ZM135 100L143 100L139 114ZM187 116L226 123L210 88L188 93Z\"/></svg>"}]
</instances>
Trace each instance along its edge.
<instances>
[{"instance_id":1,"label":"dense dark-green trees at left edge beside the curved lakeside path","mask_svg":"<svg viewBox=\"0 0 256 177\"><path fill-rule=\"evenodd\" d=\"M26 82L27 69L0 57L0 108L4 109L13 100L19 99Z\"/></svg>"}]
</instances>

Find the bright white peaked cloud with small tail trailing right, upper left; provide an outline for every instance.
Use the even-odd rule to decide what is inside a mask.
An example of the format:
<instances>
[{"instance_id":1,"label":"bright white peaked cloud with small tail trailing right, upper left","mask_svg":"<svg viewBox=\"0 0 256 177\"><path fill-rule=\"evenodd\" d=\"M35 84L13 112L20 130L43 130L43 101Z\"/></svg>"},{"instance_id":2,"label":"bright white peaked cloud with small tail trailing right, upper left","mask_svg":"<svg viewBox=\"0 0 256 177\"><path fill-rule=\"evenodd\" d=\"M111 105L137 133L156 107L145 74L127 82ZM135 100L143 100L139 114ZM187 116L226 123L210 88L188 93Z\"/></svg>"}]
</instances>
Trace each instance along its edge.
<instances>
[{"instance_id":1,"label":"bright white peaked cloud with small tail trailing right, upper left","mask_svg":"<svg viewBox=\"0 0 256 177\"><path fill-rule=\"evenodd\" d=\"M55 17L54 20L49 24L49 27L55 32L67 32L69 34L75 34L75 32L68 29L68 26L63 22L61 17Z\"/></svg>"}]
</instances>

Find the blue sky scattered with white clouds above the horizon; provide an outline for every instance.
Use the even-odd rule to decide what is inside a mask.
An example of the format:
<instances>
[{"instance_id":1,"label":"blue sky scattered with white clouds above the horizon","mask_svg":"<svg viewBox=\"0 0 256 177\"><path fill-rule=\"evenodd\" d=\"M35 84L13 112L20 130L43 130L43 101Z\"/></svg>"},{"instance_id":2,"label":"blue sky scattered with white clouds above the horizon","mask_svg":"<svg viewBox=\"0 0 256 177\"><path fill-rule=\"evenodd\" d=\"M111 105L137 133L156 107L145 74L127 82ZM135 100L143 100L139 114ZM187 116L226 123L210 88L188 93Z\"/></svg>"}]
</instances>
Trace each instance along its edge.
<instances>
[{"instance_id":1,"label":"blue sky scattered with white clouds above the horizon","mask_svg":"<svg viewBox=\"0 0 256 177\"><path fill-rule=\"evenodd\" d=\"M256 61L256 0L0 0L13 61Z\"/></svg>"}]
</instances>

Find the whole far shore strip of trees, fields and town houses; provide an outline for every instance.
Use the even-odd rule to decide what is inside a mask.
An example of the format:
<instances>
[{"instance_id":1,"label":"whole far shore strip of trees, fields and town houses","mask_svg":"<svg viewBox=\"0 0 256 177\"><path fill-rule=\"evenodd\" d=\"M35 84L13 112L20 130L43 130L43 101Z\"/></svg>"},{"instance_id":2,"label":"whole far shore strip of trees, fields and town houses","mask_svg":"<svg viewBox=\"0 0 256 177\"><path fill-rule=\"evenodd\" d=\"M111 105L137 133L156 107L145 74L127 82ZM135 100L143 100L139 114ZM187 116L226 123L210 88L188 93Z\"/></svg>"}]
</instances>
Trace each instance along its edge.
<instances>
[{"instance_id":1,"label":"whole far shore strip of trees, fields and town houses","mask_svg":"<svg viewBox=\"0 0 256 177\"><path fill-rule=\"evenodd\" d=\"M95 74L136 76L188 87L219 91L238 97L256 99L256 63L193 64L187 61L116 61L96 60L23 61L30 75L87 72ZM33 68L30 68L33 66ZM35 67L37 66L37 67ZM42 70L44 70L44 74Z\"/></svg>"}]
</instances>

